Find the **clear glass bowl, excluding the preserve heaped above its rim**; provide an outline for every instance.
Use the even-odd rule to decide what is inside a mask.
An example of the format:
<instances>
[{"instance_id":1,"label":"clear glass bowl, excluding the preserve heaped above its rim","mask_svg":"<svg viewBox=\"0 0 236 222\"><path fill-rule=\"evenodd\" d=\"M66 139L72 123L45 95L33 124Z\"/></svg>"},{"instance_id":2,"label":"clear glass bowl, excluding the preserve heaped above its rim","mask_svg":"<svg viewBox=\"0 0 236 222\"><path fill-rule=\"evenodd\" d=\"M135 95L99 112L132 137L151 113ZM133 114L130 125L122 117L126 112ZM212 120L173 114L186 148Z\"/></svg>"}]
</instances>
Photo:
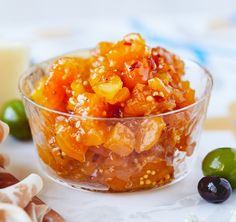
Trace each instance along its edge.
<instances>
[{"instance_id":1,"label":"clear glass bowl, excluding the preserve heaped above its rim","mask_svg":"<svg viewBox=\"0 0 236 222\"><path fill-rule=\"evenodd\" d=\"M78 51L70 56L87 56L89 51ZM48 60L32 67L20 79L19 87L29 118L33 140L44 172L57 182L73 188L102 192L125 192L152 189L173 184L183 179L191 170L212 89L209 72L193 61L184 60L186 74L196 91L197 102L185 108L145 117L95 118L70 115L43 107L30 98L37 81L48 76L52 64ZM136 144L152 140L155 129L165 127L158 141L145 152L135 151ZM61 124L61 125L60 125ZM117 133L120 141L135 138L135 143L123 144L133 147L129 155L120 156L106 149L109 142L96 145L92 139L86 146L71 141L81 125L96 133ZM143 132L143 126L149 131ZM73 126L73 132L70 131ZM148 126L148 127L147 127ZM61 128L60 128L61 127ZM57 130L56 130L57 128ZM58 130L59 129L59 130ZM128 142L129 143L129 142ZM84 162L67 156L62 150L67 146L73 152L87 149Z\"/></svg>"}]
</instances>

